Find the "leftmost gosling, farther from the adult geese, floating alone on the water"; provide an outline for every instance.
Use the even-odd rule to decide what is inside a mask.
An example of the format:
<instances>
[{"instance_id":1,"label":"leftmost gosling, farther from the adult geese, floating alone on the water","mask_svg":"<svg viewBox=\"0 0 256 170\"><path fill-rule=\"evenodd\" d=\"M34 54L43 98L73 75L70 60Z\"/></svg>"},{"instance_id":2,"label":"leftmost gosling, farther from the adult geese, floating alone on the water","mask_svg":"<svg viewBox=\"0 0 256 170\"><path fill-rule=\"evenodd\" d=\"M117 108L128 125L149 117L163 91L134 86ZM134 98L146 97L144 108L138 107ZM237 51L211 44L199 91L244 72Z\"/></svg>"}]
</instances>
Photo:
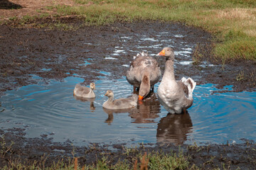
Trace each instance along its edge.
<instances>
[{"instance_id":1,"label":"leftmost gosling, farther from the adult geese, floating alone on the water","mask_svg":"<svg viewBox=\"0 0 256 170\"><path fill-rule=\"evenodd\" d=\"M95 83L90 83L90 88L81 86L80 84L75 85L74 96L83 98L95 98Z\"/></svg>"}]
</instances>

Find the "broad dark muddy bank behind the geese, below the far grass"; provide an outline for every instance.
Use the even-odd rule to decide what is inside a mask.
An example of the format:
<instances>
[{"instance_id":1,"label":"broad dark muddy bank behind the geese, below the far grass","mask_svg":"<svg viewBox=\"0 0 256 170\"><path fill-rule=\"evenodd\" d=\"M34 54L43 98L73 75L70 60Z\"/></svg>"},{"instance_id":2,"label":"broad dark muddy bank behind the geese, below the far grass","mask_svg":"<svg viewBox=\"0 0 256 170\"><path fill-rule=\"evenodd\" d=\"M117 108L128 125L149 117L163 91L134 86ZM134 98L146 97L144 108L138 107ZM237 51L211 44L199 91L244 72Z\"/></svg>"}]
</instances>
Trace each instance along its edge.
<instances>
[{"instance_id":1,"label":"broad dark muddy bank behind the geese, below the far grass","mask_svg":"<svg viewBox=\"0 0 256 170\"><path fill-rule=\"evenodd\" d=\"M47 22L51 22L50 20ZM78 18L65 23L78 24ZM210 56L211 35L199 28L181 23L137 22L114 23L112 26L82 27L78 30L49 30L48 28L12 28L0 26L0 91L38 83L48 79L62 80L69 76L85 79L84 84L98 79L100 71L110 72L110 79L124 76L132 56L147 50L157 54L162 47L171 46L176 52L194 47L203 54L199 64L181 64L183 55L176 55L176 79L192 77L198 84L233 85L233 91L253 91L256 85L256 63L238 61L224 66ZM152 40L143 39L144 37ZM184 41L186 40L186 43ZM198 45L198 47L196 47ZM115 56L121 47L126 53ZM196 50L195 50L196 49ZM188 59L192 62L192 54ZM106 62L106 57L114 60ZM89 61L90 64L85 64ZM164 59L157 60L164 69Z\"/></svg>"}]
</instances>

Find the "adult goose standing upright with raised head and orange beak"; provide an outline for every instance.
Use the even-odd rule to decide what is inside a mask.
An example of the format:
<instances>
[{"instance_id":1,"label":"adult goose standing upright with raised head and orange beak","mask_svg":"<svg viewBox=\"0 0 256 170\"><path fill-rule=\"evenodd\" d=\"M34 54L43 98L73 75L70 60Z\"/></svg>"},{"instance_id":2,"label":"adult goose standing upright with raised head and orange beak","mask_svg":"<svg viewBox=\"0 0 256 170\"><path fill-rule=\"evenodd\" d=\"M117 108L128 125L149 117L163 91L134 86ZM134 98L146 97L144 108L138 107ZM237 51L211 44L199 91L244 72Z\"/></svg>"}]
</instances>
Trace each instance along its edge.
<instances>
[{"instance_id":1,"label":"adult goose standing upright with raised head and orange beak","mask_svg":"<svg viewBox=\"0 0 256 170\"><path fill-rule=\"evenodd\" d=\"M169 113L186 113L186 109L193 104L193 90L196 82L193 79L183 77L176 81L174 77L174 50L164 47L158 55L166 57L164 76L161 79L157 95L162 106Z\"/></svg>"}]
</instances>

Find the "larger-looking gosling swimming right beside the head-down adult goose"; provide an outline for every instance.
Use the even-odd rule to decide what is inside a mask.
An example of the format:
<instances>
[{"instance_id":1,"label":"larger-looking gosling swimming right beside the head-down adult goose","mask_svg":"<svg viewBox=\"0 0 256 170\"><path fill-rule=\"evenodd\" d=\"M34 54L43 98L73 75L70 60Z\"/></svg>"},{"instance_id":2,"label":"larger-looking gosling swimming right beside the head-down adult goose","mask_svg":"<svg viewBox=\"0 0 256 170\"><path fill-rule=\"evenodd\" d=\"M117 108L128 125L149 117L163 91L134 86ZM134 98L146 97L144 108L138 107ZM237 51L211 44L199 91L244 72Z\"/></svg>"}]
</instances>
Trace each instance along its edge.
<instances>
[{"instance_id":1,"label":"larger-looking gosling swimming right beside the head-down adult goose","mask_svg":"<svg viewBox=\"0 0 256 170\"><path fill-rule=\"evenodd\" d=\"M107 101L103 103L102 107L107 109L126 109L134 108L137 106L138 95L133 94L129 98L118 98L114 100L114 93L108 90L105 94L108 97Z\"/></svg>"}]
</instances>

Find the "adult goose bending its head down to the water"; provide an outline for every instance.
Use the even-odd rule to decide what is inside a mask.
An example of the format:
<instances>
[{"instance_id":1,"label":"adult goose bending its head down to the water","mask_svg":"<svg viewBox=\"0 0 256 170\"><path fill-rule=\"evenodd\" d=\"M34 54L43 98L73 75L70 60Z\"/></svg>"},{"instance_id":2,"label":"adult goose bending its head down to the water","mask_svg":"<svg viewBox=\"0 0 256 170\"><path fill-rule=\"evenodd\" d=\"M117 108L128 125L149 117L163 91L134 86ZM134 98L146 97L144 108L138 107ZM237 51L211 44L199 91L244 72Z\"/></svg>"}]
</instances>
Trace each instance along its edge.
<instances>
[{"instance_id":1,"label":"adult goose bending its head down to the water","mask_svg":"<svg viewBox=\"0 0 256 170\"><path fill-rule=\"evenodd\" d=\"M149 94L150 89L154 91L154 84L161 78L161 69L153 57L140 52L130 64L126 78L134 86L134 91L139 87L139 100L142 100Z\"/></svg>"}]
</instances>

